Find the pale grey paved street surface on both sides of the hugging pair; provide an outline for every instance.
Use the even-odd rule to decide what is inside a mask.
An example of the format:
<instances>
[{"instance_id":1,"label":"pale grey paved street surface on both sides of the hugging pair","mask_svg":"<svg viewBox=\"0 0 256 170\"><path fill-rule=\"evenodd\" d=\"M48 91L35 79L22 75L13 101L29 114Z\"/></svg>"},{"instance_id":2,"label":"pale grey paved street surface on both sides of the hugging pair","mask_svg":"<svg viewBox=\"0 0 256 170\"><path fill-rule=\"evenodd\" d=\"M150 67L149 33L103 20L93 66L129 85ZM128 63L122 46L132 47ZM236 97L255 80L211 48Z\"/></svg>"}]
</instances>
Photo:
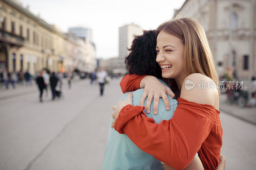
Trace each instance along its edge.
<instances>
[{"instance_id":1,"label":"pale grey paved street surface on both sides of the hugging pair","mask_svg":"<svg viewBox=\"0 0 256 170\"><path fill-rule=\"evenodd\" d=\"M100 169L119 80L78 81L64 99L39 103L35 92L0 100L0 169ZM45 95L45 94L44 94ZM256 167L256 126L221 112L226 169Z\"/></svg>"}]
</instances>

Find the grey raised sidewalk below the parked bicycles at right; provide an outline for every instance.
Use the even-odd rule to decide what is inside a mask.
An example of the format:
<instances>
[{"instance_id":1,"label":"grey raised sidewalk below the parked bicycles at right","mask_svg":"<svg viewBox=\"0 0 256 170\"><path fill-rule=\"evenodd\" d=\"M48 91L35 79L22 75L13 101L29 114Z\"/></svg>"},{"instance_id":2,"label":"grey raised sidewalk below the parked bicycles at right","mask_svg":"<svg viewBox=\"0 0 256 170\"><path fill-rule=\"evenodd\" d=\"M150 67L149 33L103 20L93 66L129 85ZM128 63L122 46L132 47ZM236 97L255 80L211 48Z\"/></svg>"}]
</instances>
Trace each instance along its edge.
<instances>
[{"instance_id":1,"label":"grey raised sidewalk below the parked bicycles at right","mask_svg":"<svg viewBox=\"0 0 256 170\"><path fill-rule=\"evenodd\" d=\"M239 108L236 103L232 106L226 104L226 94L220 94L220 112L225 112L229 115L235 116L246 122L256 125L256 107L252 108Z\"/></svg>"}]
</instances>

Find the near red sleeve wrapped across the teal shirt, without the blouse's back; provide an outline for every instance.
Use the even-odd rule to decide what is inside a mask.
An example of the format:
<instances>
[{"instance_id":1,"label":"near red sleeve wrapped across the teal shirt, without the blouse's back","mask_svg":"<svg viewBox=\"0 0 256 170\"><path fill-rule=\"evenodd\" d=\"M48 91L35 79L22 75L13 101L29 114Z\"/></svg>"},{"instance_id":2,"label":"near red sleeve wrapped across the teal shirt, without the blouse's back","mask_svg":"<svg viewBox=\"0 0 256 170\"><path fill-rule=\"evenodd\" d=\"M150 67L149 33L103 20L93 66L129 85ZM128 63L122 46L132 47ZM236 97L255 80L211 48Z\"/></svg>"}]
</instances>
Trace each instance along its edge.
<instances>
[{"instance_id":1,"label":"near red sleeve wrapped across the teal shirt, without the blouse's back","mask_svg":"<svg viewBox=\"0 0 256 170\"><path fill-rule=\"evenodd\" d=\"M175 169L184 169L190 164L211 129L207 117L195 120L195 115L182 114L186 108L179 106L171 120L160 124L147 118L139 106L127 107L116 119L115 129L125 132L141 150ZM194 126L196 123L204 128Z\"/></svg>"}]
</instances>

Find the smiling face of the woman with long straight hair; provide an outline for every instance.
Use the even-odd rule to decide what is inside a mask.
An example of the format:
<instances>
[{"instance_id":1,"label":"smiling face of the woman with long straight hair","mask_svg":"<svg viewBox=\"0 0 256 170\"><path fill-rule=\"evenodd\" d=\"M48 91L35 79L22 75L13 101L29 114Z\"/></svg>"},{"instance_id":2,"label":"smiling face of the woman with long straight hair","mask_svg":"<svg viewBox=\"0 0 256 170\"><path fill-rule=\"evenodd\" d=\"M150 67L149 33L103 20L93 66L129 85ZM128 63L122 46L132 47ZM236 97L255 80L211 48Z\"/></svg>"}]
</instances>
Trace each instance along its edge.
<instances>
[{"instance_id":1,"label":"smiling face of the woman with long straight hair","mask_svg":"<svg viewBox=\"0 0 256 170\"><path fill-rule=\"evenodd\" d=\"M183 68L184 44L180 38L161 31L156 39L156 53L163 78L174 78L177 82L186 75Z\"/></svg>"}]
</instances>

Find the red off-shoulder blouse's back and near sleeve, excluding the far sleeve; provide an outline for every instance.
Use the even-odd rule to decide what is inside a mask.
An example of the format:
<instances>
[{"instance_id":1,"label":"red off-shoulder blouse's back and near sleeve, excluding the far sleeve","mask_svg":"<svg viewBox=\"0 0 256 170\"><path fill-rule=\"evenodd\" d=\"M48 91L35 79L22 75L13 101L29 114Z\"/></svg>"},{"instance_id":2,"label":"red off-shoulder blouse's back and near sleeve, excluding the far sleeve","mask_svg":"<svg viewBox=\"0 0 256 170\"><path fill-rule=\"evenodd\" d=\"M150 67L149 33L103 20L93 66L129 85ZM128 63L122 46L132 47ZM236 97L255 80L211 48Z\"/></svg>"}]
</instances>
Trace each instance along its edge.
<instances>
[{"instance_id":1,"label":"red off-shoulder blouse's back and near sleeve, excluding the far sleeve","mask_svg":"<svg viewBox=\"0 0 256 170\"><path fill-rule=\"evenodd\" d=\"M222 128L220 112L179 98L171 120L160 124L147 118L144 107L127 105L116 119L115 129L124 133L142 151L175 169L184 169L196 152L205 169L216 169L220 161Z\"/></svg>"}]
</instances>

